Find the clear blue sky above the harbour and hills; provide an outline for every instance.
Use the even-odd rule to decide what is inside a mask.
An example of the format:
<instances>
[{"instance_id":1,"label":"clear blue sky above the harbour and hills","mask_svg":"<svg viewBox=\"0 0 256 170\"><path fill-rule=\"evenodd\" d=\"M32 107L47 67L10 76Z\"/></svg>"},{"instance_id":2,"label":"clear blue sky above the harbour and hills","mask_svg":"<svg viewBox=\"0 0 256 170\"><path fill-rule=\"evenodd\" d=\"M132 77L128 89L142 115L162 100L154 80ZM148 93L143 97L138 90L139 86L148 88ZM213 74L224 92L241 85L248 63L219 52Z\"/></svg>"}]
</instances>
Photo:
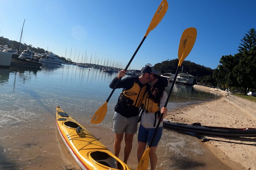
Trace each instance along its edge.
<instances>
[{"instance_id":1,"label":"clear blue sky above the harbour and hills","mask_svg":"<svg viewBox=\"0 0 256 170\"><path fill-rule=\"evenodd\" d=\"M169 8L145 39L130 65L141 69L177 58L186 28L197 29L196 43L186 60L215 69L223 55L234 55L240 40L256 28L255 0L167 0ZM142 40L161 0L0 0L2 36L81 62L82 53L94 60L128 63ZM75 55L76 49L76 56ZM88 61L87 61L88 62Z\"/></svg>"}]
</instances>

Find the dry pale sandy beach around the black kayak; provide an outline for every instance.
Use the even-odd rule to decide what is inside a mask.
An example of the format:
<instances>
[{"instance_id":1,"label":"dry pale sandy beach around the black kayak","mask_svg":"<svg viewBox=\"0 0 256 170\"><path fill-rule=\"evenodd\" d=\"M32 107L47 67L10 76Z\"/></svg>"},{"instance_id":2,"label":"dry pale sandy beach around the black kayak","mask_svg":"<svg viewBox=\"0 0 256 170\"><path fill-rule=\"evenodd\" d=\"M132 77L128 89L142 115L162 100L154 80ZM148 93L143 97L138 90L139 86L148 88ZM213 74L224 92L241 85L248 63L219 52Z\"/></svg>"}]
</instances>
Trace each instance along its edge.
<instances>
[{"instance_id":1,"label":"dry pale sandy beach around the black kayak","mask_svg":"<svg viewBox=\"0 0 256 170\"><path fill-rule=\"evenodd\" d=\"M198 85L194 86L194 88L217 92L223 95L223 97L218 100L171 110L166 119L186 124L199 122L207 126L255 128L256 117L225 100L225 94L227 92ZM226 141L219 142L210 140L204 142L204 145L224 164L229 165L229 161L232 160L248 170L256 170L256 146L243 144L256 143L256 138L220 138L215 136L208 136L208 138Z\"/></svg>"}]
</instances>

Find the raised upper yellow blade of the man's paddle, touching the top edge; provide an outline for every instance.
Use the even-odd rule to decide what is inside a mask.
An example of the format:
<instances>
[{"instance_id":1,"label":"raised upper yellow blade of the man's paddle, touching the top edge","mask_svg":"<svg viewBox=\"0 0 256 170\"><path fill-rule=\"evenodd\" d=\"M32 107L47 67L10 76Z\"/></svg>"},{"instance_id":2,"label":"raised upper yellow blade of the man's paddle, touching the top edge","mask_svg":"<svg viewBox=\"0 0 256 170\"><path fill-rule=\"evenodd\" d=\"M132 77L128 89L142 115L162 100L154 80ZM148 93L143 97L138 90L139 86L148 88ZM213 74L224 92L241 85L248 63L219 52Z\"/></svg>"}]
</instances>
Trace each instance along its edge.
<instances>
[{"instance_id":1,"label":"raised upper yellow blade of the man's paddle, touching the top edge","mask_svg":"<svg viewBox=\"0 0 256 170\"><path fill-rule=\"evenodd\" d=\"M168 2L166 0L163 0L159 5L158 9L156 10L155 15L153 16L149 24L145 37L148 36L149 32L152 31L159 24L159 22L164 17L167 9L168 9Z\"/></svg>"}]
</instances>

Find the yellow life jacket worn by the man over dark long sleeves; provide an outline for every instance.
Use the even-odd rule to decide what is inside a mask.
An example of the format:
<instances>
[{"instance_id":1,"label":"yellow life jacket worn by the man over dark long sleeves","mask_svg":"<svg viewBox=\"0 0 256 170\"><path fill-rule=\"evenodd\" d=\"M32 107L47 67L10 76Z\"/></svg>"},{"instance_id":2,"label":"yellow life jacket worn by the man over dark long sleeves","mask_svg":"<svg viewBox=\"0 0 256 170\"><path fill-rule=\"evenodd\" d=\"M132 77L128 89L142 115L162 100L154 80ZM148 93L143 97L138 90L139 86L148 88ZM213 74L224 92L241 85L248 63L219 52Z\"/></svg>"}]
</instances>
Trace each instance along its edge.
<instances>
[{"instance_id":1,"label":"yellow life jacket worn by the man over dark long sleeves","mask_svg":"<svg viewBox=\"0 0 256 170\"><path fill-rule=\"evenodd\" d=\"M134 81L132 88L125 90L121 93L121 100L137 108L142 106L142 99L146 91L146 86L140 87L138 83Z\"/></svg>"}]
</instances>

